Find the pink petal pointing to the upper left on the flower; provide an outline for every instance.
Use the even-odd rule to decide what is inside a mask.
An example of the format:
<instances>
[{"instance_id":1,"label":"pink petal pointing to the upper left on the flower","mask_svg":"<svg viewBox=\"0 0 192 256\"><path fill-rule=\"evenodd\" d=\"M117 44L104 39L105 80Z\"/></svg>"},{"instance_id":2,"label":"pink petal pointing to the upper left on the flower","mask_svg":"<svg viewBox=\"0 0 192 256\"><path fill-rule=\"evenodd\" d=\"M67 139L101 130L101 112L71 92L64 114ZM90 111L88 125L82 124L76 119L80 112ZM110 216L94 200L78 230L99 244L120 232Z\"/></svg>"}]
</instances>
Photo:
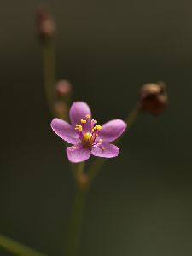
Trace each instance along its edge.
<instances>
[{"instance_id":1,"label":"pink petal pointing to the upper left on the flower","mask_svg":"<svg viewBox=\"0 0 192 256\"><path fill-rule=\"evenodd\" d=\"M50 125L53 131L55 131L55 133L67 143L79 143L78 134L74 130L73 126L69 125L66 121L62 119L53 119Z\"/></svg>"}]
</instances>

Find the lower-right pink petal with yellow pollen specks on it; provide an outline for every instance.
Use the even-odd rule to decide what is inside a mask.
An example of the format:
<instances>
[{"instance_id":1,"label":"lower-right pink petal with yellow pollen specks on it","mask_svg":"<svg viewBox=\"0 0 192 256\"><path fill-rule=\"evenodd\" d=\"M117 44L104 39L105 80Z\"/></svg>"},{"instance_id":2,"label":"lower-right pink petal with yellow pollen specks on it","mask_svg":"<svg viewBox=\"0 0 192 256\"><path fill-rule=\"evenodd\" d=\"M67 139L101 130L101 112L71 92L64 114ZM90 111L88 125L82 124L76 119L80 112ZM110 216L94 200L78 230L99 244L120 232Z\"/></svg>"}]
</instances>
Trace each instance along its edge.
<instances>
[{"instance_id":1,"label":"lower-right pink petal with yellow pollen specks on it","mask_svg":"<svg viewBox=\"0 0 192 256\"><path fill-rule=\"evenodd\" d=\"M100 157L112 158L112 157L118 156L119 148L109 143L102 143L102 145L97 144L96 146L91 148L90 154L93 154L95 156L100 156Z\"/></svg>"}]
</instances>

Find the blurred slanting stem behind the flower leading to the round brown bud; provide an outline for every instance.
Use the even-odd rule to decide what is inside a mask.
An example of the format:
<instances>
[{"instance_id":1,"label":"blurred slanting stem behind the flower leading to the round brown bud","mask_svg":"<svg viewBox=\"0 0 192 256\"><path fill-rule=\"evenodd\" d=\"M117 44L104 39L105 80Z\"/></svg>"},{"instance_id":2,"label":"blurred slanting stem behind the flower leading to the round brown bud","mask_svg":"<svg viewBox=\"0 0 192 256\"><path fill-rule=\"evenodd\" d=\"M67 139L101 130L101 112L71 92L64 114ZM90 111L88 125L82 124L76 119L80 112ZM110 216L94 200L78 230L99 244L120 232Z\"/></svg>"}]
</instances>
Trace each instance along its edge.
<instances>
[{"instance_id":1,"label":"blurred slanting stem behind the flower leading to the round brown bud","mask_svg":"<svg viewBox=\"0 0 192 256\"><path fill-rule=\"evenodd\" d=\"M131 125L133 125L137 119L139 110L138 108L133 108L131 110L131 112L128 114L128 116L125 119L125 123L128 126L128 129L131 127ZM118 144L120 141L117 140L115 144ZM89 184L88 186L90 187L90 184L92 183L92 181L94 180L94 178L98 175L98 173L100 172L102 165L105 163L106 159L105 158L97 158L96 160L94 160L94 162L92 163L92 165L90 166L89 170L88 170L88 176L89 176Z\"/></svg>"}]
</instances>

